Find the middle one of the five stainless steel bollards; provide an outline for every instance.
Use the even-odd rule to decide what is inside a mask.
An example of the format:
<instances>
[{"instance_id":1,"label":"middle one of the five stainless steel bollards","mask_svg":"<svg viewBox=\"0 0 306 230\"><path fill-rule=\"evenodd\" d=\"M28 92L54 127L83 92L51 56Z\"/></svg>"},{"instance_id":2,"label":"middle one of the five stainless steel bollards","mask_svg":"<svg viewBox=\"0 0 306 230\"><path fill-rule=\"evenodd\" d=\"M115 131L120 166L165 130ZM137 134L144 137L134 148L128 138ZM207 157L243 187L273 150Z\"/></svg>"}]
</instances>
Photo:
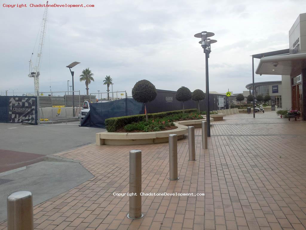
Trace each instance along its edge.
<instances>
[{"instance_id":1,"label":"middle one of the five stainless steel bollards","mask_svg":"<svg viewBox=\"0 0 306 230\"><path fill-rule=\"evenodd\" d=\"M169 180L175 181L177 177L177 135L169 135Z\"/></svg>"}]
</instances>

